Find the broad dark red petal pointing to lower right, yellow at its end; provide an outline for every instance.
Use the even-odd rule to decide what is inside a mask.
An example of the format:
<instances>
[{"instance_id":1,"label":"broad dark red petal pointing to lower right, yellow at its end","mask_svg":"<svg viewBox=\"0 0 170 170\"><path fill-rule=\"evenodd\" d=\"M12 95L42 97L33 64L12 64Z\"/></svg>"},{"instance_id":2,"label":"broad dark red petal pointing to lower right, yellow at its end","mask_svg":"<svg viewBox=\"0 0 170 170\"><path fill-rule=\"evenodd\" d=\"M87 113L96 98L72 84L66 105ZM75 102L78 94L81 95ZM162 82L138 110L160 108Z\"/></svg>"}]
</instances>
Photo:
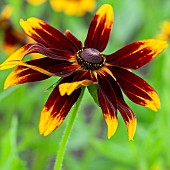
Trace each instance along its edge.
<instances>
[{"instance_id":1,"label":"broad dark red petal pointing to lower right, yellow at its end","mask_svg":"<svg viewBox=\"0 0 170 170\"><path fill-rule=\"evenodd\" d=\"M158 94L146 81L119 67L110 67L110 70L124 93L134 103L148 107L153 111L160 108Z\"/></svg>"}]
</instances>

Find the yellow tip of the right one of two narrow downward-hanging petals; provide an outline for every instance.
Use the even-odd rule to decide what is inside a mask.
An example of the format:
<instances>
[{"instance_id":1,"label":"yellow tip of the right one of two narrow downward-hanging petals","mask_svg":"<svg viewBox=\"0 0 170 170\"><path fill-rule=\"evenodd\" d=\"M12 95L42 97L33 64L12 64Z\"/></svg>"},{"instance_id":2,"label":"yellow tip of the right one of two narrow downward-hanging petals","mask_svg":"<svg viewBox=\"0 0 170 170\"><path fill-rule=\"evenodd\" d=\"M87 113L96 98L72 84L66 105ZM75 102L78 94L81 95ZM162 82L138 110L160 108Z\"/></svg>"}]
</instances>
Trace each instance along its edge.
<instances>
[{"instance_id":1,"label":"yellow tip of the right one of two narrow downward-hanging petals","mask_svg":"<svg viewBox=\"0 0 170 170\"><path fill-rule=\"evenodd\" d=\"M133 137L136 132L136 125L137 125L136 117L133 117L132 119L129 120L129 122L126 122L129 140L133 140Z\"/></svg>"}]
</instances>

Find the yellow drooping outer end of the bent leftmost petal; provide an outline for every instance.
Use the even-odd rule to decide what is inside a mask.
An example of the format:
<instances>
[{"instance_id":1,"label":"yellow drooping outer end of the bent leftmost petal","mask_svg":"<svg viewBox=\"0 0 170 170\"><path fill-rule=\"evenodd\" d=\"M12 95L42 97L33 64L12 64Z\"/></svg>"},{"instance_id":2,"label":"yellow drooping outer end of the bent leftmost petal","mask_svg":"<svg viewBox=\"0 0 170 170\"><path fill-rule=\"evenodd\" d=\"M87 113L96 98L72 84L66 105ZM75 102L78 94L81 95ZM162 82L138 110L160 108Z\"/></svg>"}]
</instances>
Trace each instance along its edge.
<instances>
[{"instance_id":1,"label":"yellow drooping outer end of the bent leftmost petal","mask_svg":"<svg viewBox=\"0 0 170 170\"><path fill-rule=\"evenodd\" d=\"M10 57L7 58L1 65L0 70L9 69L18 65L18 61L21 61L25 55L33 52L36 49L34 44L26 44L18 49Z\"/></svg>"}]
</instances>

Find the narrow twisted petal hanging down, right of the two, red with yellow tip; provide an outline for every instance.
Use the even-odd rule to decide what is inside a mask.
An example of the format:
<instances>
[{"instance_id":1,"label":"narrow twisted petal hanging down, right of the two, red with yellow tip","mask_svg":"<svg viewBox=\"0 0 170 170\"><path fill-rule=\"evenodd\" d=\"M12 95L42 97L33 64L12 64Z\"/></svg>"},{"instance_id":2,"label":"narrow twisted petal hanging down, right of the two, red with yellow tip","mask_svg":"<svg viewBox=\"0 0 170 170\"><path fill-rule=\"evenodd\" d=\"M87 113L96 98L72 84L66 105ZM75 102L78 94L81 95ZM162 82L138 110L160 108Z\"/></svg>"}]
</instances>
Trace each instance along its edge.
<instances>
[{"instance_id":1,"label":"narrow twisted petal hanging down, right of the two, red with yellow tip","mask_svg":"<svg viewBox=\"0 0 170 170\"><path fill-rule=\"evenodd\" d=\"M108 75L108 77L109 77L109 82L112 85L112 88L116 94L118 110L120 111L123 120L126 123L129 140L133 140L136 131L136 124L137 124L136 116L131 110L131 108L125 103L121 89L116 83L116 81L111 76Z\"/></svg>"}]
</instances>

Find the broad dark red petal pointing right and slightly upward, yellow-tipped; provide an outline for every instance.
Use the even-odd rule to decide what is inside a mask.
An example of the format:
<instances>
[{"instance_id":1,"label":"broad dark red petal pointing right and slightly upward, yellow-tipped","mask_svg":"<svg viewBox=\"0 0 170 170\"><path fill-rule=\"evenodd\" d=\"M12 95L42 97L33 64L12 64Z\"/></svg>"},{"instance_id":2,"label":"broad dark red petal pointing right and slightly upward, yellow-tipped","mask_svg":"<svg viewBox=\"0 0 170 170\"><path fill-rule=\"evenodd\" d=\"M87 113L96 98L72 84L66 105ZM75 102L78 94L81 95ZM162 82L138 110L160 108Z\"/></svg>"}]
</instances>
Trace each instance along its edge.
<instances>
[{"instance_id":1,"label":"broad dark red petal pointing right and slightly upward, yellow-tipped","mask_svg":"<svg viewBox=\"0 0 170 170\"><path fill-rule=\"evenodd\" d=\"M153 60L167 47L167 42L160 39L138 41L106 56L106 62L115 66L138 69Z\"/></svg>"}]
</instances>

